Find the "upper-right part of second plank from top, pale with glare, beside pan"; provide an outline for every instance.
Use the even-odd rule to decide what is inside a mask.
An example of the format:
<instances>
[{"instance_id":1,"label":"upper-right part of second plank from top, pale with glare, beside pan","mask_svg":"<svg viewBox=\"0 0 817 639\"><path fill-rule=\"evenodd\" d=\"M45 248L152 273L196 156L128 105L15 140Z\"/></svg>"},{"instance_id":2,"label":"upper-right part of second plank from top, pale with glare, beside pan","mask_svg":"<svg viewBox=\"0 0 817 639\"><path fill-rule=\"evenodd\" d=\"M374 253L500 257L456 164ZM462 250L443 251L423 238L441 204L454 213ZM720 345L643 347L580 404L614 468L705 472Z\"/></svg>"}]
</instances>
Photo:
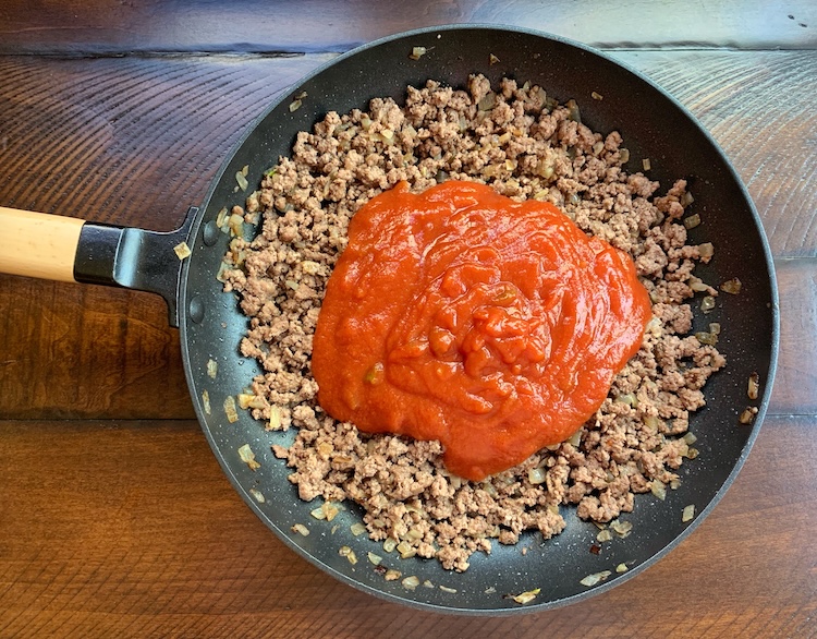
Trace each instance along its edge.
<instances>
[{"instance_id":1,"label":"upper-right part of second plank from top, pale with glare, beside pan","mask_svg":"<svg viewBox=\"0 0 817 639\"><path fill-rule=\"evenodd\" d=\"M817 56L614 51L666 88L729 156L776 257L817 255ZM790 58L790 56L792 56Z\"/></svg>"}]
</instances>

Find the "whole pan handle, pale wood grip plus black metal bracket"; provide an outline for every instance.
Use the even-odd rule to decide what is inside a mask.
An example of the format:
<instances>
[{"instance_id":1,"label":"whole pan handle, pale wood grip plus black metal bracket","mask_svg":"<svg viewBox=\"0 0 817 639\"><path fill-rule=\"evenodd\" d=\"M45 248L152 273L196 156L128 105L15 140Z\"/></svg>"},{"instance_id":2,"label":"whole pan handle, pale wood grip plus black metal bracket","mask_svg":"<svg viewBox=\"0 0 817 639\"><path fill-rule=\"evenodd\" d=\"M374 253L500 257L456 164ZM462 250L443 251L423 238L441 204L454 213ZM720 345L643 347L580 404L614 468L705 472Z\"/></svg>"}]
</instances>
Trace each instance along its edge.
<instances>
[{"instance_id":1,"label":"whole pan handle, pale wood grip plus black metal bracket","mask_svg":"<svg viewBox=\"0 0 817 639\"><path fill-rule=\"evenodd\" d=\"M180 228L158 232L0 206L0 273L158 293L178 327L183 258L174 249L197 214L191 207Z\"/></svg>"}]
</instances>

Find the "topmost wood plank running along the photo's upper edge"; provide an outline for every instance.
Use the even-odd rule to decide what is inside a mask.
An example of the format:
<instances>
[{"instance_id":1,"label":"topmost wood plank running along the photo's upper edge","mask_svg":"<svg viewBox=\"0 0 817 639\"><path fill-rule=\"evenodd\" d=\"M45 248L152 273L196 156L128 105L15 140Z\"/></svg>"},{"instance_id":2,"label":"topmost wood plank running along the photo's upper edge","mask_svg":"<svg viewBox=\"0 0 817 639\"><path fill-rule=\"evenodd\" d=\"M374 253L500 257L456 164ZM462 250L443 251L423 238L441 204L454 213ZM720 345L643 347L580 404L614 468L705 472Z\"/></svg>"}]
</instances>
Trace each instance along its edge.
<instances>
[{"instance_id":1,"label":"topmost wood plank running along the photo's upper edge","mask_svg":"<svg viewBox=\"0 0 817 639\"><path fill-rule=\"evenodd\" d=\"M308 20L305 17L308 16ZM449 23L500 23L602 47L814 48L810 0L758 3L368 2L73 0L0 8L0 52L340 51L386 35Z\"/></svg>"}]
</instances>

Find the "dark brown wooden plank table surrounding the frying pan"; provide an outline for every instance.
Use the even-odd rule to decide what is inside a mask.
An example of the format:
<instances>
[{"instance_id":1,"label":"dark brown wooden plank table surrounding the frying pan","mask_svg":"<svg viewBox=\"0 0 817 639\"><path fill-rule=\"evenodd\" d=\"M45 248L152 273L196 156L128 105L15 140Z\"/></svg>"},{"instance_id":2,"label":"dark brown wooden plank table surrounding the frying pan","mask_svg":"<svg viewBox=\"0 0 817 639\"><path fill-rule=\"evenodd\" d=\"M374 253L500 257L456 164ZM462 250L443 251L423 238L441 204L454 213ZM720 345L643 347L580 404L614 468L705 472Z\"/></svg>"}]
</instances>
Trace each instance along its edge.
<instances>
[{"instance_id":1,"label":"dark brown wooden plank table surrounding the frying pan","mask_svg":"<svg viewBox=\"0 0 817 639\"><path fill-rule=\"evenodd\" d=\"M578 605L472 618L385 603L298 558L233 492L161 299L0 276L0 637L817 636L813 0L9 0L0 205L170 230L303 74L382 35L463 22L608 49L684 103L747 184L782 343L725 498L658 565Z\"/></svg>"}]
</instances>

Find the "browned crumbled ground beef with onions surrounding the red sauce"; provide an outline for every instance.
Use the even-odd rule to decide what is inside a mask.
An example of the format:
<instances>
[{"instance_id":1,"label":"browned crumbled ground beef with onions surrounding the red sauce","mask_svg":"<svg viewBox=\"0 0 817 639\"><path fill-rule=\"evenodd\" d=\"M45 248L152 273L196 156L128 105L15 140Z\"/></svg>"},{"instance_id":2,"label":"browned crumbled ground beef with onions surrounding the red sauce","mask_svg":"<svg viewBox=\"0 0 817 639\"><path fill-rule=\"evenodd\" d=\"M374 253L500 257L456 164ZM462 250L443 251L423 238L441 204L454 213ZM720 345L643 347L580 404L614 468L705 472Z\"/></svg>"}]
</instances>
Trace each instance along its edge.
<instances>
[{"instance_id":1,"label":"browned crumbled ground beef with onions surrounding the red sauce","mask_svg":"<svg viewBox=\"0 0 817 639\"><path fill-rule=\"evenodd\" d=\"M273 451L292 468L301 498L354 501L374 540L465 570L471 554L490 553L493 541L516 543L525 530L558 534L562 506L609 522L633 509L634 493L678 485L674 471L694 456L683 437L690 412L724 365L714 346L688 335L692 284L717 291L693 275L709 255L686 243L686 183L657 195L657 182L625 171L622 144L615 132L602 136L582 124L572 101L560 106L512 80L495 89L480 75L462 91L431 81L408 87L404 107L376 98L368 111L330 112L297 135L292 157L266 174L246 212L232 212L247 221L260 213L261 228L252 241L236 234L220 277L249 317L241 352L264 369L252 385L254 417L269 429L298 429L294 444ZM420 192L449 179L552 202L627 252L654 303L641 350L597 414L569 442L479 483L448 473L437 442L371 436L334 421L318 406L309 371L321 299L351 217L401 180Z\"/></svg>"}]
</instances>

